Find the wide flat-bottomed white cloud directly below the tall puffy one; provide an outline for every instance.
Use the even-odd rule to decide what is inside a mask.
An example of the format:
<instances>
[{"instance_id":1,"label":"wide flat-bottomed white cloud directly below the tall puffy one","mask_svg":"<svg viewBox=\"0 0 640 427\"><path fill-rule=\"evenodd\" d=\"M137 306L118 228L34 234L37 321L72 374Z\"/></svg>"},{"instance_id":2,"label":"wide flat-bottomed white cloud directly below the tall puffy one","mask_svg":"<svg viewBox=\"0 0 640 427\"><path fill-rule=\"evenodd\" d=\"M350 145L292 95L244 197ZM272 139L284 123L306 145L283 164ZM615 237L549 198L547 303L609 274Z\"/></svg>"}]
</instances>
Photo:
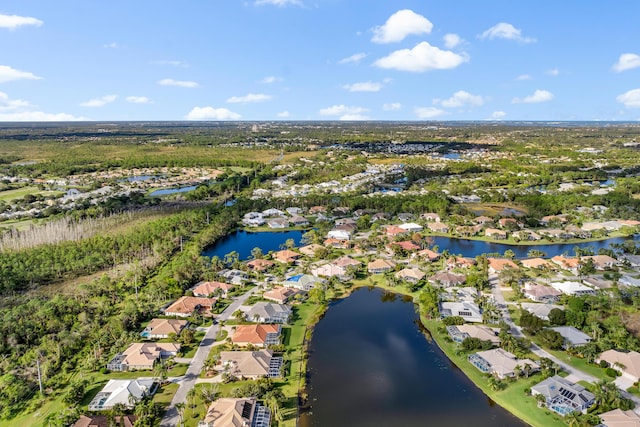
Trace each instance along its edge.
<instances>
[{"instance_id":1,"label":"wide flat-bottomed white cloud directly below the tall puffy one","mask_svg":"<svg viewBox=\"0 0 640 427\"><path fill-rule=\"evenodd\" d=\"M400 49L378 59L373 65L379 68L421 73L429 70L456 68L468 61L466 55L441 50L427 42L418 43L413 49Z\"/></svg>"}]
</instances>

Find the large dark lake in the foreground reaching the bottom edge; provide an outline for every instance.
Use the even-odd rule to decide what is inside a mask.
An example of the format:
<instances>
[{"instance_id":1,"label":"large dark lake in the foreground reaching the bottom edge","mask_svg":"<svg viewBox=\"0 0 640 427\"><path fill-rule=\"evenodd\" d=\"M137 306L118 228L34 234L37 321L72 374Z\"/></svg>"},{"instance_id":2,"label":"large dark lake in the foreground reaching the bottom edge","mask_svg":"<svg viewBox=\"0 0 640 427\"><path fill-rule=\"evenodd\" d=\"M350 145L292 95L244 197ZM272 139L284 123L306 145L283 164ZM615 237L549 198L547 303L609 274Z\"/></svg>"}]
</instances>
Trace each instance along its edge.
<instances>
[{"instance_id":1,"label":"large dark lake in the foreground reaching the bottom edge","mask_svg":"<svg viewBox=\"0 0 640 427\"><path fill-rule=\"evenodd\" d=\"M309 349L302 427L526 426L425 338L402 296L361 288L331 303Z\"/></svg>"}]
</instances>

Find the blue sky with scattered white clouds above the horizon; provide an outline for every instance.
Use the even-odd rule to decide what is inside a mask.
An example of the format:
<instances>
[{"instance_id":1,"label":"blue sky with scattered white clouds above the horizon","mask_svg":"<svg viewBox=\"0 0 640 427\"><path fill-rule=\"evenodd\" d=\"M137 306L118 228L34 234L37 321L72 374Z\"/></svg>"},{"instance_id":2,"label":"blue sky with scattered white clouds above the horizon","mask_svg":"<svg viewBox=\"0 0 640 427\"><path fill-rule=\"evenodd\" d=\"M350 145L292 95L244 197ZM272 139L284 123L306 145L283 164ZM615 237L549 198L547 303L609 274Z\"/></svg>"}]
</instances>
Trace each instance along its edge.
<instances>
[{"instance_id":1,"label":"blue sky with scattered white clouds above the horizon","mask_svg":"<svg viewBox=\"0 0 640 427\"><path fill-rule=\"evenodd\" d=\"M640 120L640 2L13 0L0 121Z\"/></svg>"}]
</instances>

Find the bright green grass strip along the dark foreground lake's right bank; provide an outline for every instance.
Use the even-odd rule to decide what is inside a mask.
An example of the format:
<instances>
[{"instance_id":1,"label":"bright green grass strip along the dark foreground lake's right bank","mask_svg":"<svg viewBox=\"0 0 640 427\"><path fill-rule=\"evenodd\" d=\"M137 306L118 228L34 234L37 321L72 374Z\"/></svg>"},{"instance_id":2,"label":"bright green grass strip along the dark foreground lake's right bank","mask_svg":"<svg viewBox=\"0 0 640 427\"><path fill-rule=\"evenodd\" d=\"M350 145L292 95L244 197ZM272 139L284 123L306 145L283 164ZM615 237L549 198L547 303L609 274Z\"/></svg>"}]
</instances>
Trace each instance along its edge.
<instances>
[{"instance_id":1,"label":"bright green grass strip along the dark foreground lake's right bank","mask_svg":"<svg viewBox=\"0 0 640 427\"><path fill-rule=\"evenodd\" d=\"M431 336L438 343L438 346L446 353L447 357L456 364L465 375L473 381L487 396L498 405L505 408L518 418L535 427L565 426L566 424L560 416L545 408L538 408L537 402L531 396L525 394L525 390L541 381L539 375L531 378L521 378L518 381L504 381L506 385L501 390L493 391L489 388L485 374L477 370L467 361L466 354L457 354L457 345L445 341L438 328L442 323L435 320L422 318L422 323L431 332Z\"/></svg>"}]
</instances>

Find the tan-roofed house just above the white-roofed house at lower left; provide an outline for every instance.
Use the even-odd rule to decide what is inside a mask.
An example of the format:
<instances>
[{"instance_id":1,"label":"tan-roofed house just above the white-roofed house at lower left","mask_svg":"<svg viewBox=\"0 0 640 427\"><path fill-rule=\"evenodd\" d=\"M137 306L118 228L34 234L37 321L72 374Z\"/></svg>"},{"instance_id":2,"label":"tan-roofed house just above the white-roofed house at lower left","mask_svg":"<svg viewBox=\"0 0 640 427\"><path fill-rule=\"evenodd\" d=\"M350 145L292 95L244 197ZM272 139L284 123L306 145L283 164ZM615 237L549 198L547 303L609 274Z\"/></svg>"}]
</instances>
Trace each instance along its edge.
<instances>
[{"instance_id":1,"label":"tan-roofed house just above the white-roofed house at lower left","mask_svg":"<svg viewBox=\"0 0 640 427\"><path fill-rule=\"evenodd\" d=\"M107 369L110 371L152 370L159 359L175 356L179 351L180 344L170 342L133 343L122 353L116 354L107 364Z\"/></svg>"}]
</instances>

